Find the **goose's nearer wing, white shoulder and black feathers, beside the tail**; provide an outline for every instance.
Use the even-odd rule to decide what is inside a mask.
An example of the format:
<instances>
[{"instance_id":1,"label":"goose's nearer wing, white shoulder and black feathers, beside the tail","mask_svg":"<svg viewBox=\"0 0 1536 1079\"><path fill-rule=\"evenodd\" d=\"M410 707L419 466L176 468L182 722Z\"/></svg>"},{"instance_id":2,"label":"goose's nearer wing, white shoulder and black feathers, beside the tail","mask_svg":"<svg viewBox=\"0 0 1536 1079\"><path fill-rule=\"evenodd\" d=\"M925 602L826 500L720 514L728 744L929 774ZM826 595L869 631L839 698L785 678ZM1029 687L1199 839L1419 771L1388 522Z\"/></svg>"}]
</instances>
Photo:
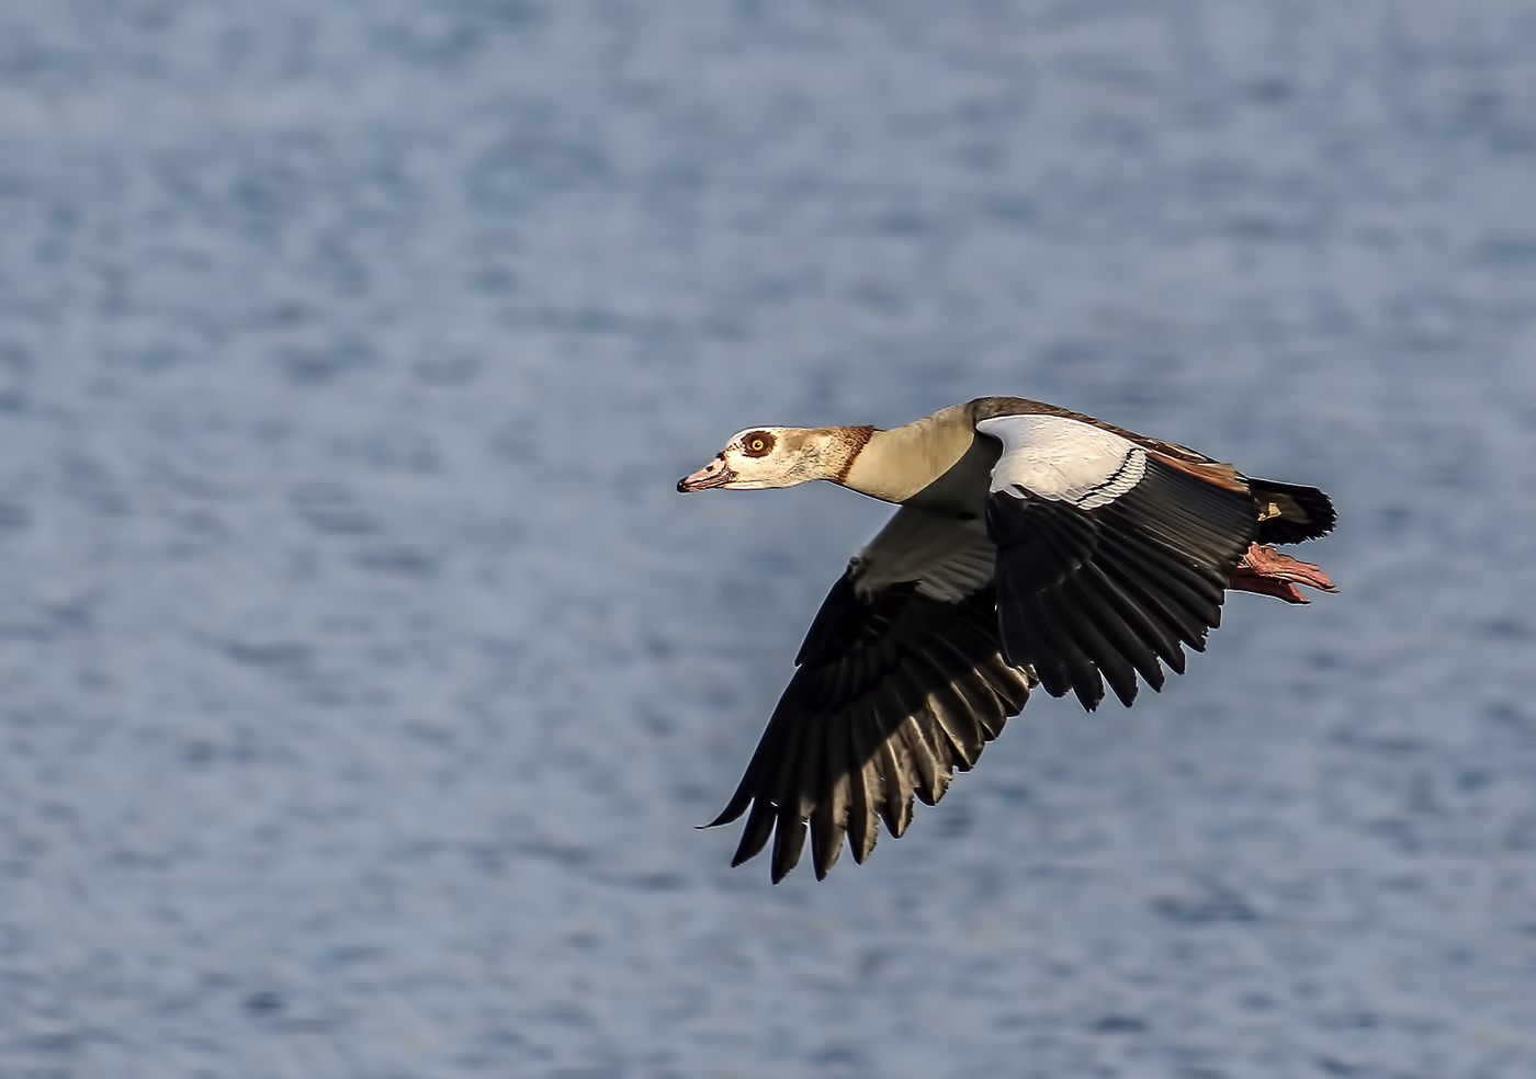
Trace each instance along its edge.
<instances>
[{"instance_id":1,"label":"goose's nearer wing, white shoulder and black feathers, beside the tail","mask_svg":"<svg viewBox=\"0 0 1536 1079\"><path fill-rule=\"evenodd\" d=\"M977 430L1003 444L986 503L1003 655L1089 709L1104 680L1124 704L1137 674L1161 689L1158 660L1183 672L1181 645L1204 651L1258 534L1246 483L1064 416L997 416Z\"/></svg>"}]
</instances>

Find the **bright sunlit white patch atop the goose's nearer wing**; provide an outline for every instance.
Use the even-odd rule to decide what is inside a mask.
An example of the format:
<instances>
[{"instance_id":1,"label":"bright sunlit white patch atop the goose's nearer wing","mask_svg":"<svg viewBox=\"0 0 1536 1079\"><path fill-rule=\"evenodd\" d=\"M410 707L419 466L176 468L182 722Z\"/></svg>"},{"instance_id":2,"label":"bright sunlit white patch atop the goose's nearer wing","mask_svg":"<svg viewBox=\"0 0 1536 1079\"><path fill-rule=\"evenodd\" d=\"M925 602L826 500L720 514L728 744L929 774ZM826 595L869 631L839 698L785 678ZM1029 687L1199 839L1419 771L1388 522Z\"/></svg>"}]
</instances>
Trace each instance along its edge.
<instances>
[{"instance_id":1,"label":"bright sunlit white patch atop the goose's nearer wing","mask_svg":"<svg viewBox=\"0 0 1536 1079\"><path fill-rule=\"evenodd\" d=\"M1147 451L1114 431L1066 416L994 416L975 425L1003 444L992 465L992 493L1071 502L1078 510L1109 505L1141 482Z\"/></svg>"}]
</instances>

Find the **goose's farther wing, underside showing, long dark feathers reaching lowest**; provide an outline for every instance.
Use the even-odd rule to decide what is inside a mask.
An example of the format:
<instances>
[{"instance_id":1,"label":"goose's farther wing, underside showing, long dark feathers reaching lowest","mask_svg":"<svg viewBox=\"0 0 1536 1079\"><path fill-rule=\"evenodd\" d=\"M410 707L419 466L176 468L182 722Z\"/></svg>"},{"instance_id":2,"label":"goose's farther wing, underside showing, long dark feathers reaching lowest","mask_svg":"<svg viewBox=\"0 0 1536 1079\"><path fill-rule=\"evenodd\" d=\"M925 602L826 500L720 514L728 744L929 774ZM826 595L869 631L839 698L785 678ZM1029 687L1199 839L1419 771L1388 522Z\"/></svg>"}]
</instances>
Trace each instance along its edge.
<instances>
[{"instance_id":1,"label":"goose's farther wing, underside showing, long dark feathers reaching lowest","mask_svg":"<svg viewBox=\"0 0 1536 1079\"><path fill-rule=\"evenodd\" d=\"M971 514L968 514L971 516ZM912 798L938 801L1018 714L1029 678L1001 655L994 548L982 522L903 507L833 585L746 774L711 824L751 807L733 866L774 836L773 879L811 835L825 878L880 820L902 835Z\"/></svg>"}]
</instances>

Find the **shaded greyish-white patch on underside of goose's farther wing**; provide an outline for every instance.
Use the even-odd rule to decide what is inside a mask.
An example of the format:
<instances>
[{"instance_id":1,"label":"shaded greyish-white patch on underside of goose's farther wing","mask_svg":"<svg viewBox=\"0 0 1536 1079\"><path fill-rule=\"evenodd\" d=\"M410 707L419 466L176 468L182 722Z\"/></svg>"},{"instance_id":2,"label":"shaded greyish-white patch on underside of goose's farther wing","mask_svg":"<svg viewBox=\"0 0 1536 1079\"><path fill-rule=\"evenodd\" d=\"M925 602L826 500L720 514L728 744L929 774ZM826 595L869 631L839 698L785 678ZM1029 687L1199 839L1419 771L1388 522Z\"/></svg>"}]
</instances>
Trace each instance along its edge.
<instances>
[{"instance_id":1,"label":"shaded greyish-white patch on underside of goose's farther wing","mask_svg":"<svg viewBox=\"0 0 1536 1079\"><path fill-rule=\"evenodd\" d=\"M915 580L920 594L957 603L992 580L997 548L980 520L902 507L848 568L863 599Z\"/></svg>"}]
</instances>

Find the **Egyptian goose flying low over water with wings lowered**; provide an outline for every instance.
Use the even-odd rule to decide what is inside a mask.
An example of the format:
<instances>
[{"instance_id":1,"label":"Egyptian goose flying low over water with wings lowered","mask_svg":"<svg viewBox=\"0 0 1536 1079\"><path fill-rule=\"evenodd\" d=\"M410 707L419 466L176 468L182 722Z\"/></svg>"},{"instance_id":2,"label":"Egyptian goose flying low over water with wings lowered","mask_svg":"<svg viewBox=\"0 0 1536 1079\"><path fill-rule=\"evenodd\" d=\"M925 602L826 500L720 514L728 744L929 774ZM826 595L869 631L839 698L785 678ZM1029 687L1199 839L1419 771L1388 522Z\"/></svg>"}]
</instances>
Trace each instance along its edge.
<instances>
[{"instance_id":1,"label":"Egyptian goose flying low over water with wings lowered","mask_svg":"<svg viewBox=\"0 0 1536 1079\"><path fill-rule=\"evenodd\" d=\"M1204 651L1226 589L1336 591L1270 546L1332 531L1322 491L1021 398L892 430L753 427L677 490L814 479L900 510L833 585L710 824L751 807L731 864L773 835L776 884L806 830L817 879L845 835L859 863L880 820L900 836L912 797L937 803L1035 685L1094 709L1107 681L1129 706L1137 675L1161 689L1163 663L1184 672L1183 645Z\"/></svg>"}]
</instances>

